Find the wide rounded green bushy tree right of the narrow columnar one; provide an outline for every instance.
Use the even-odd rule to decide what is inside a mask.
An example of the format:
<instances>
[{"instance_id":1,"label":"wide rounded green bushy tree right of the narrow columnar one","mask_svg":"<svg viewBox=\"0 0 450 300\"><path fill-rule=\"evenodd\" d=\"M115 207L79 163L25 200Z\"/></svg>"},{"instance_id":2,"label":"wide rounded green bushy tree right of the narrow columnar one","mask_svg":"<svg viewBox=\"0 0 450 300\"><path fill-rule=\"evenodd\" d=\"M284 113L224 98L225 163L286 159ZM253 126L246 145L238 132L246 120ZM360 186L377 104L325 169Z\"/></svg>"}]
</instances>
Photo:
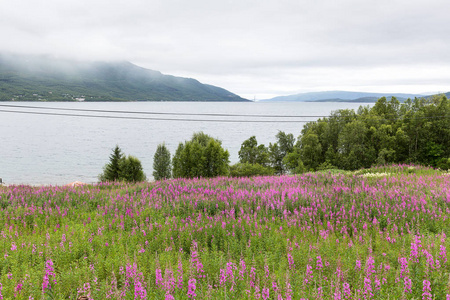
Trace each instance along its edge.
<instances>
[{"instance_id":1,"label":"wide rounded green bushy tree right of the narrow columnar one","mask_svg":"<svg viewBox=\"0 0 450 300\"><path fill-rule=\"evenodd\" d=\"M174 178L216 177L229 172L229 156L222 143L199 132L180 143L173 156Z\"/></svg>"}]
</instances>

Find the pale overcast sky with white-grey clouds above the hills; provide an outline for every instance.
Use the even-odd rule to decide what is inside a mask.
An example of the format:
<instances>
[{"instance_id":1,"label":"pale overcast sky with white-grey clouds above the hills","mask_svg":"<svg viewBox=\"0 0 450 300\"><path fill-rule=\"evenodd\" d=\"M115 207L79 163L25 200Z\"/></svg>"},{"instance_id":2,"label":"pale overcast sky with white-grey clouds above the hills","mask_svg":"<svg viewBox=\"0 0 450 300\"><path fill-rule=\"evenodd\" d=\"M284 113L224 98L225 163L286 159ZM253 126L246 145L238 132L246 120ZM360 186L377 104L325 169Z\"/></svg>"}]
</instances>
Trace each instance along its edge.
<instances>
[{"instance_id":1,"label":"pale overcast sky with white-grey clouds above the hills","mask_svg":"<svg viewBox=\"0 0 450 300\"><path fill-rule=\"evenodd\" d=\"M450 91L448 0L0 0L0 51L128 60L249 99Z\"/></svg>"}]
</instances>

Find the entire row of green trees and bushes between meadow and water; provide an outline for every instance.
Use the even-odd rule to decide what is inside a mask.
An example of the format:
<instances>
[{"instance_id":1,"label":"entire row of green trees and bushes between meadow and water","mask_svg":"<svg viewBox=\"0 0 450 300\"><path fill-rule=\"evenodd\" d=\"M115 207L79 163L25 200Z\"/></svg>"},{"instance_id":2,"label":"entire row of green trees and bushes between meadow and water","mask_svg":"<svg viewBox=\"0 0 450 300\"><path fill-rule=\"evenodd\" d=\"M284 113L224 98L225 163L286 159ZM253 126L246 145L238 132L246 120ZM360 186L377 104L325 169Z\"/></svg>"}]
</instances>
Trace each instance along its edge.
<instances>
[{"instance_id":1,"label":"entire row of green trees and bushes between meadow and water","mask_svg":"<svg viewBox=\"0 0 450 300\"><path fill-rule=\"evenodd\" d=\"M308 122L297 139L292 133L279 131L276 142L265 146L252 136L242 143L238 154L239 162L230 166L229 152L220 140L203 132L194 133L178 145L172 158L165 144L158 145L153 177L298 174L392 163L450 169L450 103L445 95L404 103L395 97L383 97L372 107L341 109ZM136 158L124 158L120 149L115 149L100 180L144 180L138 165Z\"/></svg>"}]
</instances>

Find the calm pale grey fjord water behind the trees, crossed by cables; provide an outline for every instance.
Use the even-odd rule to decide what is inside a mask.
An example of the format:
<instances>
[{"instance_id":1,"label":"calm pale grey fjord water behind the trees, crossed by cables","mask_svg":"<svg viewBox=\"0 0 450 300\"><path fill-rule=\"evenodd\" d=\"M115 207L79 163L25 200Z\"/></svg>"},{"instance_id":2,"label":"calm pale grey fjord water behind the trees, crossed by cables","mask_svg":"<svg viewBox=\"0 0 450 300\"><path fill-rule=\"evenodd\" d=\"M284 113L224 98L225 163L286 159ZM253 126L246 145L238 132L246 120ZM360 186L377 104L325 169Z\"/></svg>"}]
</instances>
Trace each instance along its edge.
<instances>
[{"instance_id":1,"label":"calm pale grey fjord water behind the trees, crossed by cables","mask_svg":"<svg viewBox=\"0 0 450 300\"><path fill-rule=\"evenodd\" d=\"M7 105L42 108L93 109L133 112L173 112L230 115L320 115L341 109L357 109L360 103L212 103L212 102L108 102L48 103L3 102ZM0 104L1 105L1 104ZM51 111L31 108L5 110L59 114L85 114L132 118L168 118L183 120L110 119L79 116L34 115L0 111L0 178L7 184L61 185L73 181L92 183L108 162L117 144L126 153L138 157L151 179L153 155L165 142L172 155L178 144L203 131L222 141L230 152L230 161L238 161L244 140L256 136L266 146L275 142L279 130L295 137L305 124L317 118L257 118L230 116L172 116L114 113ZM186 121L193 119L199 121ZM293 123L225 123L205 120L290 120Z\"/></svg>"}]
</instances>

